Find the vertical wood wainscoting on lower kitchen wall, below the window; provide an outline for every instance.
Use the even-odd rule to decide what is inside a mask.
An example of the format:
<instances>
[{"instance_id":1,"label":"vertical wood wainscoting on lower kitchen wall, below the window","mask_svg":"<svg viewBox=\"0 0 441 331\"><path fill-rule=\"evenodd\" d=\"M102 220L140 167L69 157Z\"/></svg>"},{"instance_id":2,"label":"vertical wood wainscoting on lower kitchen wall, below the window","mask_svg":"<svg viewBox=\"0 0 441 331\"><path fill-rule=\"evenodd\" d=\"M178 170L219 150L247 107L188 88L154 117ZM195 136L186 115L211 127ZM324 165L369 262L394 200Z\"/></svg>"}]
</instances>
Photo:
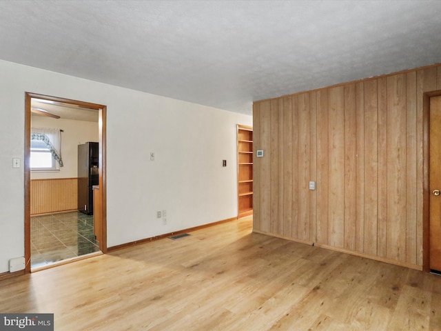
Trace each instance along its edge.
<instances>
[{"instance_id":1,"label":"vertical wood wainscoting on lower kitchen wall, below the window","mask_svg":"<svg viewBox=\"0 0 441 331\"><path fill-rule=\"evenodd\" d=\"M30 214L78 209L78 179L33 179L30 181Z\"/></svg>"}]
</instances>

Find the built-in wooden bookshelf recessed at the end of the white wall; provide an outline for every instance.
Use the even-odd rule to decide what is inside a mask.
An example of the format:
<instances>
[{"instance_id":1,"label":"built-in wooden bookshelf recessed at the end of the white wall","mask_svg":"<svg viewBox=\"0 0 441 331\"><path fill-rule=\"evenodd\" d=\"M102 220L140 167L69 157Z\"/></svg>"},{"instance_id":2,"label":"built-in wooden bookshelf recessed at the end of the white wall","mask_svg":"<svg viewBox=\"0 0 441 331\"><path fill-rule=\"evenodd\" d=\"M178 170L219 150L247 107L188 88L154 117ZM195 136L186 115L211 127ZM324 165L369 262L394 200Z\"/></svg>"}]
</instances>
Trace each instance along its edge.
<instances>
[{"instance_id":1,"label":"built-in wooden bookshelf recessed at the end of the white wall","mask_svg":"<svg viewBox=\"0 0 441 331\"><path fill-rule=\"evenodd\" d=\"M253 213L253 128L237 126L238 217Z\"/></svg>"}]
</instances>

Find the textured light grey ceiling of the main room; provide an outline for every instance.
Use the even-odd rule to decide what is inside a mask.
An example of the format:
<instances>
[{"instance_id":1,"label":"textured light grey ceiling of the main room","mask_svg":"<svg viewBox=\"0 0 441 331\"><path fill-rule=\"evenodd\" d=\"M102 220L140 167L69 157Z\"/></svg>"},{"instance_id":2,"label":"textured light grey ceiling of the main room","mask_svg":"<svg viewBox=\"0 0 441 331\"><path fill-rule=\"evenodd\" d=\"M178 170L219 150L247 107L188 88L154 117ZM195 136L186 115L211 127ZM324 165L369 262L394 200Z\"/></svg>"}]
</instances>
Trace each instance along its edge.
<instances>
[{"instance_id":1,"label":"textured light grey ceiling of the main room","mask_svg":"<svg viewBox=\"0 0 441 331\"><path fill-rule=\"evenodd\" d=\"M0 59L251 114L441 62L441 1L0 0Z\"/></svg>"}]
</instances>

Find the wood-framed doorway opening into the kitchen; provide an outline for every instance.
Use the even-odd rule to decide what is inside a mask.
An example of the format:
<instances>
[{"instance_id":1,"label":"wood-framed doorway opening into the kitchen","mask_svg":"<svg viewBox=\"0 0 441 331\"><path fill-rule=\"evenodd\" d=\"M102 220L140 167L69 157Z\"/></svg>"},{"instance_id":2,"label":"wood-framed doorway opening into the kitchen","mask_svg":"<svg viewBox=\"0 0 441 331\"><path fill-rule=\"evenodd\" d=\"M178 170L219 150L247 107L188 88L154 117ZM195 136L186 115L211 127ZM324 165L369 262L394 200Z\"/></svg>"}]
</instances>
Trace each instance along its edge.
<instances>
[{"instance_id":1,"label":"wood-framed doorway opening into the kitchen","mask_svg":"<svg viewBox=\"0 0 441 331\"><path fill-rule=\"evenodd\" d=\"M96 103L25 93L25 272L107 251L105 115ZM77 147L86 141L98 148L94 207L84 212Z\"/></svg>"}]
</instances>

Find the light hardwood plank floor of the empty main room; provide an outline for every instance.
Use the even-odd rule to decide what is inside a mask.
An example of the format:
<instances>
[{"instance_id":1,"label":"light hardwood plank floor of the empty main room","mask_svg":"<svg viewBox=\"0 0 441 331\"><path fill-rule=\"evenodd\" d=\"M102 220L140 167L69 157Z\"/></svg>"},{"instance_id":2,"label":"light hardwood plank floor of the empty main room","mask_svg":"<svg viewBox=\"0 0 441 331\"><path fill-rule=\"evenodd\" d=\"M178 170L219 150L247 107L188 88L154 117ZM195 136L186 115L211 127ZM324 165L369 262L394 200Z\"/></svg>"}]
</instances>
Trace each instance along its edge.
<instances>
[{"instance_id":1,"label":"light hardwood plank floor of the empty main room","mask_svg":"<svg viewBox=\"0 0 441 331\"><path fill-rule=\"evenodd\" d=\"M441 330L441 277L252 233L251 217L0 282L55 330Z\"/></svg>"}]
</instances>

